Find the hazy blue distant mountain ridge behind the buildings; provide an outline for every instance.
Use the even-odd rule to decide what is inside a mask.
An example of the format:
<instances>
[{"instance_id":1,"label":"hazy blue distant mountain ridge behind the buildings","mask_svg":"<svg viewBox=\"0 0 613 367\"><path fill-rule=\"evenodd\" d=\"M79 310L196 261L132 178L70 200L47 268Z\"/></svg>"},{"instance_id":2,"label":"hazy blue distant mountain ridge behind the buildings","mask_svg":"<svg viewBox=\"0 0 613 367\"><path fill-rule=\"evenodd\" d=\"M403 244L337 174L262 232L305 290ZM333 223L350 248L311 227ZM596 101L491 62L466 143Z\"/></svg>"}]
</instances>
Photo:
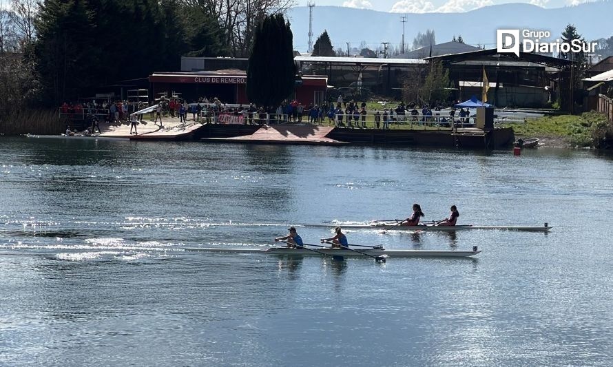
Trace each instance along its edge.
<instances>
[{"instance_id":1,"label":"hazy blue distant mountain ridge behind the buildings","mask_svg":"<svg viewBox=\"0 0 613 367\"><path fill-rule=\"evenodd\" d=\"M417 32L435 30L437 43L450 41L461 35L470 45L496 45L497 29L548 30L559 37L568 23L573 23L585 39L592 41L610 37L610 19L613 1L583 3L565 8L544 9L528 3L508 3L487 6L463 13L406 14L405 45L413 43ZM334 48L346 49L346 42L357 47L366 41L369 48L380 42L399 44L402 39L402 23L397 13L375 10L315 6L313 8L313 43L328 30ZM296 50L305 51L309 43L309 8L298 6L288 13Z\"/></svg>"}]
</instances>

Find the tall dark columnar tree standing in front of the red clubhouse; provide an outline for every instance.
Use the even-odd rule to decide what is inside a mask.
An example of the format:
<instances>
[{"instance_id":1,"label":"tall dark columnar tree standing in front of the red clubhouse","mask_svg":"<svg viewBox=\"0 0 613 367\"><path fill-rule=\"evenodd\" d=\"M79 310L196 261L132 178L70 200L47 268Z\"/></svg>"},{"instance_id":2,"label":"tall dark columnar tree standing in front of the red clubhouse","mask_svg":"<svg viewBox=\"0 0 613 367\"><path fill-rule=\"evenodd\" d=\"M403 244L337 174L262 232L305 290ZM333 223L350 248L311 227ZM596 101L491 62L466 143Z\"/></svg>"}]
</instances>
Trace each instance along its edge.
<instances>
[{"instance_id":1,"label":"tall dark columnar tree standing in front of the red clubhouse","mask_svg":"<svg viewBox=\"0 0 613 367\"><path fill-rule=\"evenodd\" d=\"M292 39L289 22L281 14L260 23L247 69L249 101L268 109L293 92L296 70Z\"/></svg>"}]
</instances>

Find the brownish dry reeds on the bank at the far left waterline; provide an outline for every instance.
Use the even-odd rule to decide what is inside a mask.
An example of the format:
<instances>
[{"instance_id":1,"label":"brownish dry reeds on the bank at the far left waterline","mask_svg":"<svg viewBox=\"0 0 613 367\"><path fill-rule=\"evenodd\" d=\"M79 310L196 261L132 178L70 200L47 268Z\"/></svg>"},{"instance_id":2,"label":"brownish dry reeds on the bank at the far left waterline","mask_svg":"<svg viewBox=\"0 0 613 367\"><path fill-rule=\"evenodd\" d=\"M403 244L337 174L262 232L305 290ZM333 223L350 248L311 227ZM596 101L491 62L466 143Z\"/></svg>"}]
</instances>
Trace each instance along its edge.
<instances>
[{"instance_id":1,"label":"brownish dry reeds on the bank at the far left waterline","mask_svg":"<svg viewBox=\"0 0 613 367\"><path fill-rule=\"evenodd\" d=\"M58 135L65 131L56 109L20 110L0 118L0 134L3 135Z\"/></svg>"}]
</instances>

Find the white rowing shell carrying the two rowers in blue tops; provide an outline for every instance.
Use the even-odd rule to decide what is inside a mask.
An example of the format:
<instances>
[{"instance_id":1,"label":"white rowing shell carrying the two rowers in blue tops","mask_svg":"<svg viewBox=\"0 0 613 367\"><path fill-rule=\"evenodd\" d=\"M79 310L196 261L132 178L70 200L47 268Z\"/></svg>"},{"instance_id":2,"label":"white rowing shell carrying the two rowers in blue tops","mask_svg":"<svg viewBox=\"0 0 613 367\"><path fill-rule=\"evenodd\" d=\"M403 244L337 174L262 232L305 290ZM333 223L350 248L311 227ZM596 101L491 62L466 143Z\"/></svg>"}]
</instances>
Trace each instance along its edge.
<instances>
[{"instance_id":1,"label":"white rowing shell carrying the two rowers in blue tops","mask_svg":"<svg viewBox=\"0 0 613 367\"><path fill-rule=\"evenodd\" d=\"M305 249L289 249L287 247L269 247L267 249L219 249L209 247L186 247L185 251L201 251L209 253L260 253L267 255L318 255L318 253L305 250ZM350 256L353 258L364 258L365 255L357 253L355 251L344 249L331 249L325 247L323 249L317 249L318 252L333 255L333 256ZM386 250L386 249L368 249L360 250L360 252L371 256L388 255L388 257L395 258L413 258L416 256L425 257L467 257L477 255L480 250L475 251L447 251L447 250Z\"/></svg>"}]
</instances>

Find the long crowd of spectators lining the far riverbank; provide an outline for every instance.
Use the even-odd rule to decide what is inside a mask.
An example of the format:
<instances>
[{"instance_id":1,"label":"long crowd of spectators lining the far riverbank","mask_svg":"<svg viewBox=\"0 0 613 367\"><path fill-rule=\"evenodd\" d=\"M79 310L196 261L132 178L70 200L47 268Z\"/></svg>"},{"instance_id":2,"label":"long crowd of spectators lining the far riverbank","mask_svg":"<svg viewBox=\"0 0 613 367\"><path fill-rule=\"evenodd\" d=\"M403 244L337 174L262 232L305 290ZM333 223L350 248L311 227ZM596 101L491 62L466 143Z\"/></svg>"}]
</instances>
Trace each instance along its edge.
<instances>
[{"instance_id":1,"label":"long crowd of spectators lining the far riverbank","mask_svg":"<svg viewBox=\"0 0 613 367\"><path fill-rule=\"evenodd\" d=\"M91 132L97 127L98 121L106 123L130 123L131 130L136 133L136 125L143 121L143 114L134 115L147 107L146 103L133 101L112 101L108 98L92 99L83 103L63 103L60 107L62 114L71 119L85 120L91 125ZM240 123L244 124L274 124L274 123L311 123L324 125L329 123L337 127L366 128L367 123L373 124L376 129L389 129L393 124L417 123L418 125L437 124L439 126L452 127L453 125L467 124L470 119L468 109L461 108L459 112L455 108L447 114L441 115L441 107L428 105L421 107L419 111L416 104L407 106L404 102L396 107L384 107L375 109L374 113L368 112L366 101L357 103L353 100L343 101L340 95L336 101L327 101L322 105L303 105L293 99L283 101L276 109L264 109L253 103L249 105L231 105L223 103L219 98L200 97L188 103L185 98L160 98L155 109L150 111L151 120L163 127L162 118L179 118L180 123L187 120L198 123L226 123L220 120L222 115L236 116ZM459 120L456 119L458 114ZM372 126L372 125L371 125ZM98 131L99 131L99 127ZM132 134L132 132L131 132Z\"/></svg>"}]
</instances>

